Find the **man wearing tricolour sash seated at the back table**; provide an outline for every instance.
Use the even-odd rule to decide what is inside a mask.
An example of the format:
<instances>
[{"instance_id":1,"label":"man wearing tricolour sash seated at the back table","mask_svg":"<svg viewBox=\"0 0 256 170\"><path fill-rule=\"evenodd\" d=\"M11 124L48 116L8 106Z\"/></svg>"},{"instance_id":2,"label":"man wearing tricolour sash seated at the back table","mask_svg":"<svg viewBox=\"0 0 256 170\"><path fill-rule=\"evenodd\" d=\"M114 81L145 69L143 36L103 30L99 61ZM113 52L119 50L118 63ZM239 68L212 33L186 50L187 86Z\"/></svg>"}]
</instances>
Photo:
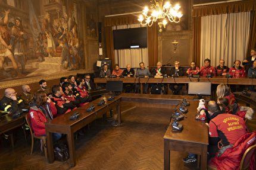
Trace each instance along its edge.
<instances>
[{"instance_id":1,"label":"man wearing tricolour sash seated at the back table","mask_svg":"<svg viewBox=\"0 0 256 170\"><path fill-rule=\"evenodd\" d=\"M157 68L152 70L151 75L153 75L154 77L159 77L159 76L163 76L164 74L167 75L166 68L162 67L161 62L157 62ZM153 94L157 94L157 89L155 88L155 85L157 85L158 87L158 94L161 94L161 88L163 84L151 84Z\"/></svg>"}]
</instances>

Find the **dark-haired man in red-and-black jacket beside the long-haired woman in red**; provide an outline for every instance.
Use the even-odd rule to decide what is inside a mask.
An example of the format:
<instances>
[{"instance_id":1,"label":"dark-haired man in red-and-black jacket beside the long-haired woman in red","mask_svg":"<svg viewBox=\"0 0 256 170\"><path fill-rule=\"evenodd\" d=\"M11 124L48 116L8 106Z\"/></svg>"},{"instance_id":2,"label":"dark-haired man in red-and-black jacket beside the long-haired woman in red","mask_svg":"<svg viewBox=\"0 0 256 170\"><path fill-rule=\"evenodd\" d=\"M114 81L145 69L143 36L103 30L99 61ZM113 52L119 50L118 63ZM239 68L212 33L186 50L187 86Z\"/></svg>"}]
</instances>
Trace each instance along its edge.
<instances>
[{"instance_id":1,"label":"dark-haired man in red-and-black jacket beside the long-haired woman in red","mask_svg":"<svg viewBox=\"0 0 256 170\"><path fill-rule=\"evenodd\" d=\"M71 110L76 109L76 105L73 102L67 100L67 98L63 98L63 89L60 85L52 86L52 98L51 100L54 102L55 107L57 108L57 114L55 117L61 116L61 114L68 113Z\"/></svg>"}]
</instances>

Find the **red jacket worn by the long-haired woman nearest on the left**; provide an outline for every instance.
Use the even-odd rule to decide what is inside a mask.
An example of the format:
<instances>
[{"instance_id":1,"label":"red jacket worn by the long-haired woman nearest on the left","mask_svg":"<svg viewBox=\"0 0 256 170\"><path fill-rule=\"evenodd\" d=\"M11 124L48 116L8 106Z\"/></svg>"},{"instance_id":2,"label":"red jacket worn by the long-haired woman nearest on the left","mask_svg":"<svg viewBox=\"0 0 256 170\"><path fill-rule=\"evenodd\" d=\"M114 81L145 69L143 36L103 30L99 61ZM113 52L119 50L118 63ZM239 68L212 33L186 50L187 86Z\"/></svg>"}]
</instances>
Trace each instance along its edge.
<instances>
[{"instance_id":1,"label":"red jacket worn by the long-haired woman nearest on the left","mask_svg":"<svg viewBox=\"0 0 256 170\"><path fill-rule=\"evenodd\" d=\"M49 102L49 105L51 107L52 116L54 116L57 114L57 109L52 101ZM43 124L47 121L45 114L43 114L36 106L30 107L29 114L35 136L41 136L45 134L45 125Z\"/></svg>"}]
</instances>

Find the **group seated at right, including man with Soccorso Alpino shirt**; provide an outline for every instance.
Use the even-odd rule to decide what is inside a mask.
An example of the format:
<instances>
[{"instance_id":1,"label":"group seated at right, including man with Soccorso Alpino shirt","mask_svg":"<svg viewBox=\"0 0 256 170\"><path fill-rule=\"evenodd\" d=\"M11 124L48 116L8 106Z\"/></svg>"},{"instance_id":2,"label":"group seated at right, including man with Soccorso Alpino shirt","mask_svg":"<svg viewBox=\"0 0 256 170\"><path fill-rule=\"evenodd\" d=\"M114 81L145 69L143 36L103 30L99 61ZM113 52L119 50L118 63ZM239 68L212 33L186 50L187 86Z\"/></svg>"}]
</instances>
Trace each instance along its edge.
<instances>
[{"instance_id":1,"label":"group seated at right, including man with Soccorso Alpino shirt","mask_svg":"<svg viewBox=\"0 0 256 170\"><path fill-rule=\"evenodd\" d=\"M250 107L243 107L236 103L235 95L230 92L226 84L217 86L217 102L209 101L207 107L201 108L198 112L206 117L205 123L209 127L209 145L208 145L208 160L213 158L213 162L219 167L229 169L231 166L238 166L240 162L231 163L232 159L238 157L242 153L243 142L249 137L255 138L255 132L249 133L245 119L252 119L254 111ZM236 143L238 149L235 153L230 153L228 150L222 158L221 151L232 147ZM253 145L254 142L250 143ZM218 154L218 155L217 155ZM225 162L223 163L223 159ZM229 159L227 161L227 159ZM183 162L195 162L196 156L189 153ZM229 163L227 163L229 162ZM231 164L230 164L231 163ZM230 165L229 165L230 164ZM233 169L233 168L231 168Z\"/></svg>"}]
</instances>

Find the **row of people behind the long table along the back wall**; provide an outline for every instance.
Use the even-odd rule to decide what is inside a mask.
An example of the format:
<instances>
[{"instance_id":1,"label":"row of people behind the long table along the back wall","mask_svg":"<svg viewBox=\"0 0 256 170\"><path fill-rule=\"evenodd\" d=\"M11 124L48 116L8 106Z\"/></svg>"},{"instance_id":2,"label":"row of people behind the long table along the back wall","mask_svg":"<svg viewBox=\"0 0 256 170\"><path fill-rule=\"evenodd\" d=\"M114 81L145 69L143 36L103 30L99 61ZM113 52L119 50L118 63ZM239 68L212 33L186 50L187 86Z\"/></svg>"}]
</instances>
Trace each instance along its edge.
<instances>
[{"instance_id":1,"label":"row of people behind the long table along the back wall","mask_svg":"<svg viewBox=\"0 0 256 170\"><path fill-rule=\"evenodd\" d=\"M242 64L246 65L246 70L248 70L248 77L251 77L252 75L256 76L256 49L251 50L252 56L248 57L247 59L243 60ZM254 61L255 60L255 61ZM236 60L234 62L234 65L232 68L229 68L225 66L225 61L220 60L219 65L216 66L215 68L210 65L211 60L210 59L205 59L204 60L204 66L201 68L196 67L195 62L191 62L191 67L186 70L186 75L200 75L200 76L227 76L230 75L233 78L239 78L239 77L245 77L246 76L246 70L241 66L241 61ZM104 69L101 70L99 76L100 77L105 77L108 78L110 75L115 75L117 77L119 76L127 76L127 77L132 77L132 76L139 76L139 75L144 75L146 76L154 76L155 78L162 77L164 75L166 76L172 76L176 78L177 76L183 76L183 68L180 67L179 61L174 62L174 67L171 68L170 73L167 73L166 68L162 67L161 62L157 62L157 68L153 69L152 72L149 72L147 68L145 68L145 65L143 62L139 63L139 69L136 71L135 75L135 70L131 69L130 65L126 66L126 69L121 70L119 68L118 64L115 64L115 69L111 73L111 70L108 69L107 65L104 65ZM123 84L123 89L125 92L130 93L132 92L135 84ZM105 86L105 84L102 84L102 87ZM149 84L145 84L145 88L143 93L147 93L148 91ZM183 85L182 84L170 84L169 88L171 91L173 91L174 95L179 94L180 90L182 89ZM161 89L163 88L163 84L151 84L152 88L152 94L161 94ZM216 88L214 86L213 88ZM239 85L238 91L243 91L245 88L245 85ZM141 85L137 84L136 89L141 90ZM158 91L157 91L158 89ZM236 91L236 85L230 85L231 92ZM250 91L254 91L254 86L249 85L248 89Z\"/></svg>"}]
</instances>

